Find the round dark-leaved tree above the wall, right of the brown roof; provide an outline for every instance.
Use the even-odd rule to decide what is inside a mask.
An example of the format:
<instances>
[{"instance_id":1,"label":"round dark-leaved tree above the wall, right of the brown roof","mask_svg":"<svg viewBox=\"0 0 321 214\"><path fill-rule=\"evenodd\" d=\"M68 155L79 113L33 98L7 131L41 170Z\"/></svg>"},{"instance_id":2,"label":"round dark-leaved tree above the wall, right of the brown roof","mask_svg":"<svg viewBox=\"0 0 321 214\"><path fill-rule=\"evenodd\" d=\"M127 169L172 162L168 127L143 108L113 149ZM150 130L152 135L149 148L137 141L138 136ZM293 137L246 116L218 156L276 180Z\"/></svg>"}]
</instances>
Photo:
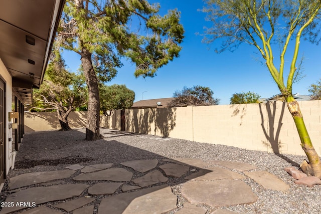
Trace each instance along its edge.
<instances>
[{"instance_id":1,"label":"round dark-leaved tree above the wall, right of the brown roof","mask_svg":"<svg viewBox=\"0 0 321 214\"><path fill-rule=\"evenodd\" d=\"M174 100L169 104L170 106L206 106L218 105L219 99L213 98L213 91L209 87L194 86L187 88L186 86L182 91L175 91Z\"/></svg>"}]
</instances>

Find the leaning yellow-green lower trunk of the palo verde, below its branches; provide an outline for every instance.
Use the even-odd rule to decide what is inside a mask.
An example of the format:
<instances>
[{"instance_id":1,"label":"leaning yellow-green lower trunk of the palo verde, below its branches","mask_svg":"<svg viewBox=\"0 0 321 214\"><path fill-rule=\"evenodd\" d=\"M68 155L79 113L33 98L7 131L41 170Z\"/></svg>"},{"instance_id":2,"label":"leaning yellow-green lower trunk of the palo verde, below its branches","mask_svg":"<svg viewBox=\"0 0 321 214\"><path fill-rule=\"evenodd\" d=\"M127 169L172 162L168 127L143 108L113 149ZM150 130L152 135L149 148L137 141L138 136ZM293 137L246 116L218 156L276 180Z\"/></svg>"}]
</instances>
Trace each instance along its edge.
<instances>
[{"instance_id":1,"label":"leaning yellow-green lower trunk of the palo verde, below its branches","mask_svg":"<svg viewBox=\"0 0 321 214\"><path fill-rule=\"evenodd\" d=\"M297 132L301 140L301 147L305 152L308 161L304 160L300 167L309 176L317 176L321 178L321 162L318 154L316 153L310 136L306 130L303 116L301 114L299 104L293 98L293 96L286 97L287 107L293 117Z\"/></svg>"}]
</instances>

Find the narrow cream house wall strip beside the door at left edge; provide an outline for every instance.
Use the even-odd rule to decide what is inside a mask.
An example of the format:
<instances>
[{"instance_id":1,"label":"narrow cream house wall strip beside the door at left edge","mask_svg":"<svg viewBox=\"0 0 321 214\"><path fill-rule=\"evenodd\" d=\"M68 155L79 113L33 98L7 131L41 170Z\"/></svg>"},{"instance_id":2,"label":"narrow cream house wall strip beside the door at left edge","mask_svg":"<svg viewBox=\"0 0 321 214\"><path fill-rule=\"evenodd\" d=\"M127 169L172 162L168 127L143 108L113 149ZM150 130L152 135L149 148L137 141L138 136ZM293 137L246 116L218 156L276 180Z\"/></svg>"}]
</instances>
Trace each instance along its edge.
<instances>
[{"instance_id":1,"label":"narrow cream house wall strip beside the door at left edge","mask_svg":"<svg viewBox=\"0 0 321 214\"><path fill-rule=\"evenodd\" d=\"M9 142L9 119L8 113L12 111L12 77L9 74L6 66L0 59L0 76L6 83L6 110L5 110L5 136L4 136L4 144L5 144L5 165L6 171L5 173L8 174L10 167L12 166L12 145Z\"/></svg>"}]
</instances>

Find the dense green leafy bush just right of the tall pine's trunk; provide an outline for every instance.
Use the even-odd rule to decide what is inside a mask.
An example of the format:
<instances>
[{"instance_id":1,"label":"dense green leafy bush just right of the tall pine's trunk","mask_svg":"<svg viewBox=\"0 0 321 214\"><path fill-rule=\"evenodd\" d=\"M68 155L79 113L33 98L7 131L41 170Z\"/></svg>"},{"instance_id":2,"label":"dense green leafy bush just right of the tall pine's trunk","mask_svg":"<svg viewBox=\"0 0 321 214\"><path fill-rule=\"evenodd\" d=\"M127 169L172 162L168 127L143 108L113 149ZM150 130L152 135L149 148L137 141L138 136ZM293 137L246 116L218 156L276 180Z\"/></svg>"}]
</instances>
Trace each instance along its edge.
<instances>
[{"instance_id":1,"label":"dense green leafy bush just right of the tall pine's trunk","mask_svg":"<svg viewBox=\"0 0 321 214\"><path fill-rule=\"evenodd\" d=\"M106 114L109 110L131 108L135 92L125 85L100 86L100 110Z\"/></svg>"}]
</instances>

